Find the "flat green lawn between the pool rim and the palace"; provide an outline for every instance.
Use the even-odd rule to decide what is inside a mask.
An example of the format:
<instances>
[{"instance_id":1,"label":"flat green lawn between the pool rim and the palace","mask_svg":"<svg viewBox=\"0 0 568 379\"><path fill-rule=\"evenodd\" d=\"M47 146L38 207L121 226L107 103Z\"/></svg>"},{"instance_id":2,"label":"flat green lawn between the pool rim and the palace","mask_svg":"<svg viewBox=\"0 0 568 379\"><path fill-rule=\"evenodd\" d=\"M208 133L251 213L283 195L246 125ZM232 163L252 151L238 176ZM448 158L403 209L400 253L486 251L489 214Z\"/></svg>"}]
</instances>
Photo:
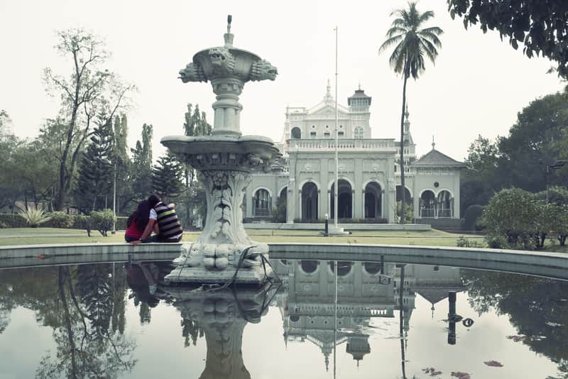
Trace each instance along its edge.
<instances>
[{"instance_id":1,"label":"flat green lawn between the pool rim and the palace","mask_svg":"<svg viewBox=\"0 0 568 379\"><path fill-rule=\"evenodd\" d=\"M411 246L456 246L457 238L465 238L483 243L483 236L451 234L445 231L354 231L353 234L338 237L320 236L319 231L247 229L249 236L258 242L283 243L364 243ZM66 236L73 234L73 236ZM40 235L40 236L38 236ZM49 236L47 236L49 235ZM0 246L36 245L42 243L124 243L124 231L103 237L98 231L87 232L78 229L55 228L13 228L0 229ZM195 241L199 231L183 234L182 242ZM11 237L13 236L13 237ZM568 253L568 246L559 246L547 239L547 251Z\"/></svg>"}]
</instances>

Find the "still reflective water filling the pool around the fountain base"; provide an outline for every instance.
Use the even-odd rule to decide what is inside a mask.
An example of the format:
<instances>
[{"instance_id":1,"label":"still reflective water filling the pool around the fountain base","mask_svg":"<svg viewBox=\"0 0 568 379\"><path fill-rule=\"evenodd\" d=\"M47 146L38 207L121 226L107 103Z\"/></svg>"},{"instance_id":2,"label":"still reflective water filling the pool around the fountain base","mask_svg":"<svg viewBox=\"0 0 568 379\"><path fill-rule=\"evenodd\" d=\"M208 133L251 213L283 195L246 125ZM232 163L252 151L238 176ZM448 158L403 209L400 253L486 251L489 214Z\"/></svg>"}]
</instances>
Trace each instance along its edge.
<instances>
[{"instance_id":1,"label":"still reflective water filling the pool around the fountain base","mask_svg":"<svg viewBox=\"0 0 568 379\"><path fill-rule=\"evenodd\" d=\"M0 270L0 378L568 378L567 282L273 260L281 285L190 291L167 264Z\"/></svg>"}]
</instances>

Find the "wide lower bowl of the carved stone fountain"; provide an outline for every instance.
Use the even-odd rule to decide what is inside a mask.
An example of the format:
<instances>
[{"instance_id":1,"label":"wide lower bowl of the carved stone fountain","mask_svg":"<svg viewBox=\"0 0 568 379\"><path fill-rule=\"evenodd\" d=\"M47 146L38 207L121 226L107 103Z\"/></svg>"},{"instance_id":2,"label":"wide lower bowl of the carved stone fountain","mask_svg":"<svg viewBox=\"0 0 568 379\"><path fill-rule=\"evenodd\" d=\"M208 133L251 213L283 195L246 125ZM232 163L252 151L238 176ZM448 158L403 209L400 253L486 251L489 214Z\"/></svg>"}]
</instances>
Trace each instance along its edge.
<instances>
[{"instance_id":1,"label":"wide lower bowl of the carved stone fountain","mask_svg":"<svg viewBox=\"0 0 568 379\"><path fill-rule=\"evenodd\" d=\"M270 170L280 157L270 138L261 136L166 136L160 141L197 170Z\"/></svg>"}]
</instances>

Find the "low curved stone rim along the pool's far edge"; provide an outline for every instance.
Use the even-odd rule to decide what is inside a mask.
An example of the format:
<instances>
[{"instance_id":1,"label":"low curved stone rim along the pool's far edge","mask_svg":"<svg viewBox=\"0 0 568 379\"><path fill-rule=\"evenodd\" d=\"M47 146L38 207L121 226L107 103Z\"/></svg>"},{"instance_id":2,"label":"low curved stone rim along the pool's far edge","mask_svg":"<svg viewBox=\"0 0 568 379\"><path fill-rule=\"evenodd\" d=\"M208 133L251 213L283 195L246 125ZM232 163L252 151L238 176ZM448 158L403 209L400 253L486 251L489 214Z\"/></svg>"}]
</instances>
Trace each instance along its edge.
<instances>
[{"instance_id":1,"label":"low curved stone rim along the pool's far edge","mask_svg":"<svg viewBox=\"0 0 568 379\"><path fill-rule=\"evenodd\" d=\"M189 242L185 242L189 243ZM0 269L42 265L169 260L185 243L73 243L0 246ZM453 246L365 243L268 243L273 259L354 260L446 265L568 280L568 254Z\"/></svg>"}]
</instances>

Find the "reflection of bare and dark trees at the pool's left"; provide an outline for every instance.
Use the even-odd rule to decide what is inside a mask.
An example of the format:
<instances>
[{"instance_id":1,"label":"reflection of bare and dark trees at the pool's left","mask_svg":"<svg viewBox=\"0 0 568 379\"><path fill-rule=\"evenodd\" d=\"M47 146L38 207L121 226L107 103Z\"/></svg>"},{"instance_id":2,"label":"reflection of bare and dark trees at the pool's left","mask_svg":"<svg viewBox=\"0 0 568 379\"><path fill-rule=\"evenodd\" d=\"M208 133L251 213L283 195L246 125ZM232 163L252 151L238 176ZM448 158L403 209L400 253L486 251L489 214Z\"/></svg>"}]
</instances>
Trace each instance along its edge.
<instances>
[{"instance_id":1,"label":"reflection of bare and dark trees at the pool's left","mask_svg":"<svg viewBox=\"0 0 568 379\"><path fill-rule=\"evenodd\" d=\"M37 378L117 378L136 364L136 344L123 334L126 280L112 271L106 264L2 273L0 309L26 307L53 328L56 351L40 359Z\"/></svg>"}]
</instances>

